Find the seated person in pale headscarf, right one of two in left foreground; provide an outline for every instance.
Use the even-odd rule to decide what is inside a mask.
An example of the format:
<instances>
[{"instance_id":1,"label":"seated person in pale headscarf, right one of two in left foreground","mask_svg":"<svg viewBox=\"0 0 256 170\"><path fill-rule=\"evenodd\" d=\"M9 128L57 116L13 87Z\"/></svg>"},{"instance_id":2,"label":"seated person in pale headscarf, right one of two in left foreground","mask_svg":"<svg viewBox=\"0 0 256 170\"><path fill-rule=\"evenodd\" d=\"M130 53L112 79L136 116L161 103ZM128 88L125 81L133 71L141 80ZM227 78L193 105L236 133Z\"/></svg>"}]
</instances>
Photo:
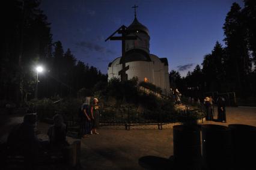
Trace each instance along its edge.
<instances>
[{"instance_id":1,"label":"seated person in pale headscarf, right one of two in left foreground","mask_svg":"<svg viewBox=\"0 0 256 170\"><path fill-rule=\"evenodd\" d=\"M62 148L69 145L66 141L67 127L63 123L61 115L55 115L53 117L53 125L50 126L47 135L49 136L49 142L53 148Z\"/></svg>"}]
</instances>

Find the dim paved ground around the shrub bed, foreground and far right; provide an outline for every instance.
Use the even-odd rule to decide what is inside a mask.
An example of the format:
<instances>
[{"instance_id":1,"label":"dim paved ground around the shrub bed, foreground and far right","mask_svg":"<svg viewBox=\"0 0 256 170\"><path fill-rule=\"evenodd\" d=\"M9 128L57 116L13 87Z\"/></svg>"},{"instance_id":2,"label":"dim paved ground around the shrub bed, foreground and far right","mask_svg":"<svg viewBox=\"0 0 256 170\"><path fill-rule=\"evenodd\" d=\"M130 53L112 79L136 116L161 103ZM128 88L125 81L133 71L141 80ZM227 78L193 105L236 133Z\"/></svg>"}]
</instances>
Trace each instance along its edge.
<instances>
[{"instance_id":1,"label":"dim paved ground around the shrub bed, foreground and far right","mask_svg":"<svg viewBox=\"0 0 256 170\"><path fill-rule=\"evenodd\" d=\"M217 116L215 108L215 118ZM1 117L1 140L11 126L22 121L22 117ZM227 123L204 121L203 124L248 124L256 126L256 108L227 107ZM44 138L48 124L39 123L38 129ZM100 135L82 139L81 165L83 169L142 169L138 159L142 156L168 158L173 155L172 129L163 130L114 130L100 129ZM41 135L41 136L43 136ZM69 138L70 140L74 140Z\"/></svg>"}]
</instances>

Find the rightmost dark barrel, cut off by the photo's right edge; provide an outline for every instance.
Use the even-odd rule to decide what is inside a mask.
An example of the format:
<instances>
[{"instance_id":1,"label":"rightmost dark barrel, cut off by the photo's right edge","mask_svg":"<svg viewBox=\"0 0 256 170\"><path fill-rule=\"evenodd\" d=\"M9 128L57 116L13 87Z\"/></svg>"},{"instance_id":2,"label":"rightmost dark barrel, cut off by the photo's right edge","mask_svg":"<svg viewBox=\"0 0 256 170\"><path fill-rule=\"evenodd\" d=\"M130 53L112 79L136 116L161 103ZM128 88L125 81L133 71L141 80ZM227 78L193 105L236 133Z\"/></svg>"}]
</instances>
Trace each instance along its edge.
<instances>
[{"instance_id":1,"label":"rightmost dark barrel, cut off by the photo's right edge","mask_svg":"<svg viewBox=\"0 0 256 170\"><path fill-rule=\"evenodd\" d=\"M256 169L256 127L230 124L234 169Z\"/></svg>"}]
</instances>

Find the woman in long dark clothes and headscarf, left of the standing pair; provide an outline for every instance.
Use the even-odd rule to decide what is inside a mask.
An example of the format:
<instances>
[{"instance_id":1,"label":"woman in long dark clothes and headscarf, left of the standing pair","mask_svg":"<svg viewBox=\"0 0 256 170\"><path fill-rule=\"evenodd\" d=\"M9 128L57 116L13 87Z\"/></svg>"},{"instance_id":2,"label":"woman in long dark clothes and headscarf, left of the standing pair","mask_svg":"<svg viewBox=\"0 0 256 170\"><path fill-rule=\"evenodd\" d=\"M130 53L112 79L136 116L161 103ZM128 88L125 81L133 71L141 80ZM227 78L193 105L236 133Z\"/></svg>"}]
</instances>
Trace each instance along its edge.
<instances>
[{"instance_id":1,"label":"woman in long dark clothes and headscarf, left of the standing pair","mask_svg":"<svg viewBox=\"0 0 256 170\"><path fill-rule=\"evenodd\" d=\"M91 97L86 97L85 102L81 106L81 136L82 138L87 138L87 135L91 133L91 121L90 115L90 99Z\"/></svg>"}]
</instances>

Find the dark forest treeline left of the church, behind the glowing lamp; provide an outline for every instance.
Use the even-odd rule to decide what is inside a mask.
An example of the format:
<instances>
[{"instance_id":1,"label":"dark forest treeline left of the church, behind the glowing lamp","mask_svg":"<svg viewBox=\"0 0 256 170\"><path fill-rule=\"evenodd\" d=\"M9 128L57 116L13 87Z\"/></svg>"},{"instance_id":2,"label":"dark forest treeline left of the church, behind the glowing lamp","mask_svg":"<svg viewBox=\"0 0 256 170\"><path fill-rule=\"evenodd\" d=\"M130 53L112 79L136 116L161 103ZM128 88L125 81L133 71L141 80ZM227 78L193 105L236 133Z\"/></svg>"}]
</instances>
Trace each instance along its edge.
<instances>
[{"instance_id":1,"label":"dark forest treeline left of the church, behind the glowing lamp","mask_svg":"<svg viewBox=\"0 0 256 170\"><path fill-rule=\"evenodd\" d=\"M38 97L75 96L81 88L93 88L107 76L95 67L77 61L70 49L64 52L60 41L53 43L50 23L40 10L40 1L11 0L2 21L4 45L1 50L0 100L16 104L34 97L36 65L39 74Z\"/></svg>"}]
</instances>

